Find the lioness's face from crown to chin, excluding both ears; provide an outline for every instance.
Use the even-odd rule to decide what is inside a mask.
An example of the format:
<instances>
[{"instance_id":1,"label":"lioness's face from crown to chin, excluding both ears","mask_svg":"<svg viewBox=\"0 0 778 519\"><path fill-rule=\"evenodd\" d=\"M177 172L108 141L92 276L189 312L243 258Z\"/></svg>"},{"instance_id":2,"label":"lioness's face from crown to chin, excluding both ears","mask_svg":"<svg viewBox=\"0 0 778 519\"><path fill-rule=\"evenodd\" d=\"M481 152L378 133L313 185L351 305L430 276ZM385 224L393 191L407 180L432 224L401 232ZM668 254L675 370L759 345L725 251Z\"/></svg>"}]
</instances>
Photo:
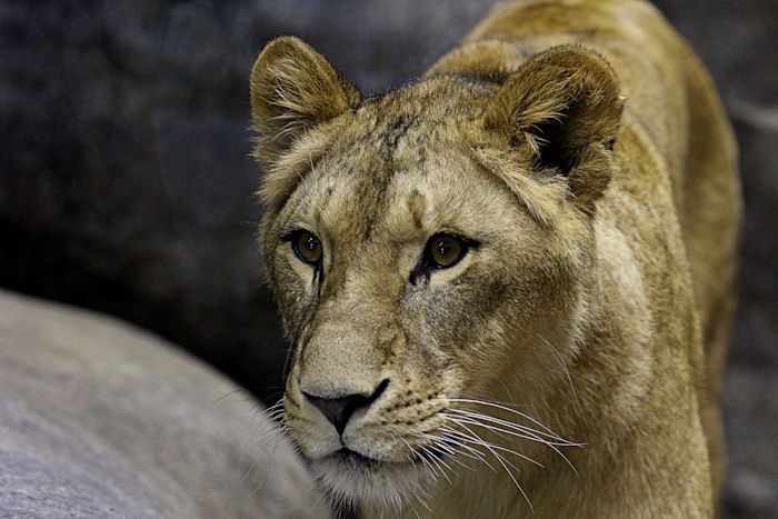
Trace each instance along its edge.
<instances>
[{"instance_id":1,"label":"lioness's face from crown to chin, excluding both ears","mask_svg":"<svg viewBox=\"0 0 778 519\"><path fill-rule=\"evenodd\" d=\"M489 128L498 90L433 78L260 150L285 422L336 496L392 505L441 457L477 460L473 401L541 401L575 353L590 216L531 142Z\"/></svg>"}]
</instances>

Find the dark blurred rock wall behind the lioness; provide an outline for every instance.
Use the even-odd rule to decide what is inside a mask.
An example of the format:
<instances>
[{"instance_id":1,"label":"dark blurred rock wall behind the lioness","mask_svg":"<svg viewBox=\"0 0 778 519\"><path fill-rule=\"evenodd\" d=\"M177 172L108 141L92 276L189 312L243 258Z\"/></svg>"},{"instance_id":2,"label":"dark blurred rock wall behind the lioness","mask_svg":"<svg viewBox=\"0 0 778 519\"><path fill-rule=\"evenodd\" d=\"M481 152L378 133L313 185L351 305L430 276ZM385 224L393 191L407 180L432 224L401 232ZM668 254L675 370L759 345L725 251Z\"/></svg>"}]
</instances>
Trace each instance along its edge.
<instances>
[{"instance_id":1,"label":"dark blurred rock wall behind the lioness","mask_svg":"<svg viewBox=\"0 0 778 519\"><path fill-rule=\"evenodd\" d=\"M420 74L479 0L0 0L0 286L151 328L272 402L248 77L300 36L363 92ZM778 517L778 2L655 2L710 68L746 218L727 517Z\"/></svg>"}]
</instances>

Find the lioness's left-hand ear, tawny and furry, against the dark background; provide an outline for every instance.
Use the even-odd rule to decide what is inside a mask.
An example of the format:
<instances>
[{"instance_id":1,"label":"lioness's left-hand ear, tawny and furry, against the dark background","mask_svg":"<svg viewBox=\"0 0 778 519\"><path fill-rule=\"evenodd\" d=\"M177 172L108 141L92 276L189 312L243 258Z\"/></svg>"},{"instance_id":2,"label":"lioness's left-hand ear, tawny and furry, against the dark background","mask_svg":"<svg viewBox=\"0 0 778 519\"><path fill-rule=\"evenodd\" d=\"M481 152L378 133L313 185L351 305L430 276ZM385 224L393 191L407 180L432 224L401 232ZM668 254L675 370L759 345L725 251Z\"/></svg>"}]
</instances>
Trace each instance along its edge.
<instances>
[{"instance_id":1,"label":"lioness's left-hand ear, tawny and furry, against the dark background","mask_svg":"<svg viewBox=\"0 0 778 519\"><path fill-rule=\"evenodd\" d=\"M306 129L359 104L359 92L313 48L293 37L268 43L251 71L257 157L271 162Z\"/></svg>"}]
</instances>

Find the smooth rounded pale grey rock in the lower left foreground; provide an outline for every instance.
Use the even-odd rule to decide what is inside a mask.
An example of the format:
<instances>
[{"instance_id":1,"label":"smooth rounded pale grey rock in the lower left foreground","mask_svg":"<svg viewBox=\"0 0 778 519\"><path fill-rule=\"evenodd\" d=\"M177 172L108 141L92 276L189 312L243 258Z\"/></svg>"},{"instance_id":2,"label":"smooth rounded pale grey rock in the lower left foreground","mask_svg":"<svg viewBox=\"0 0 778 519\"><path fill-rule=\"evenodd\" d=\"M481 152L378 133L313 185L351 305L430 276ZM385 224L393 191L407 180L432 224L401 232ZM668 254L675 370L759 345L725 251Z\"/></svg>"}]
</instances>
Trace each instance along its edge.
<instances>
[{"instance_id":1,"label":"smooth rounded pale grey rock in the lower left foreground","mask_svg":"<svg viewBox=\"0 0 778 519\"><path fill-rule=\"evenodd\" d=\"M0 291L0 517L323 518L292 448L138 328Z\"/></svg>"}]
</instances>

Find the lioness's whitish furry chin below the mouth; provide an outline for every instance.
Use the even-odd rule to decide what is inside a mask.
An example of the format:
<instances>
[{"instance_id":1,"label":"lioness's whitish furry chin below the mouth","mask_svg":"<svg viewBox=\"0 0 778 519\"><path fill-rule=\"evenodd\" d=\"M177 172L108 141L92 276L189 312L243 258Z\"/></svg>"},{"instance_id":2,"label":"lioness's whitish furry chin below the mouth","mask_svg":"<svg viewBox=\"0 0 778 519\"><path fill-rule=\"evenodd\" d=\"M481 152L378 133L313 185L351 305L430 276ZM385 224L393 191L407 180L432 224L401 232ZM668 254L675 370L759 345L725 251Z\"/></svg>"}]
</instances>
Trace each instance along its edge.
<instances>
[{"instance_id":1,"label":"lioness's whitish furry chin below the mouth","mask_svg":"<svg viewBox=\"0 0 778 519\"><path fill-rule=\"evenodd\" d=\"M310 468L335 502L401 510L418 503L435 478L423 466L380 461L341 449L310 460Z\"/></svg>"}]
</instances>

